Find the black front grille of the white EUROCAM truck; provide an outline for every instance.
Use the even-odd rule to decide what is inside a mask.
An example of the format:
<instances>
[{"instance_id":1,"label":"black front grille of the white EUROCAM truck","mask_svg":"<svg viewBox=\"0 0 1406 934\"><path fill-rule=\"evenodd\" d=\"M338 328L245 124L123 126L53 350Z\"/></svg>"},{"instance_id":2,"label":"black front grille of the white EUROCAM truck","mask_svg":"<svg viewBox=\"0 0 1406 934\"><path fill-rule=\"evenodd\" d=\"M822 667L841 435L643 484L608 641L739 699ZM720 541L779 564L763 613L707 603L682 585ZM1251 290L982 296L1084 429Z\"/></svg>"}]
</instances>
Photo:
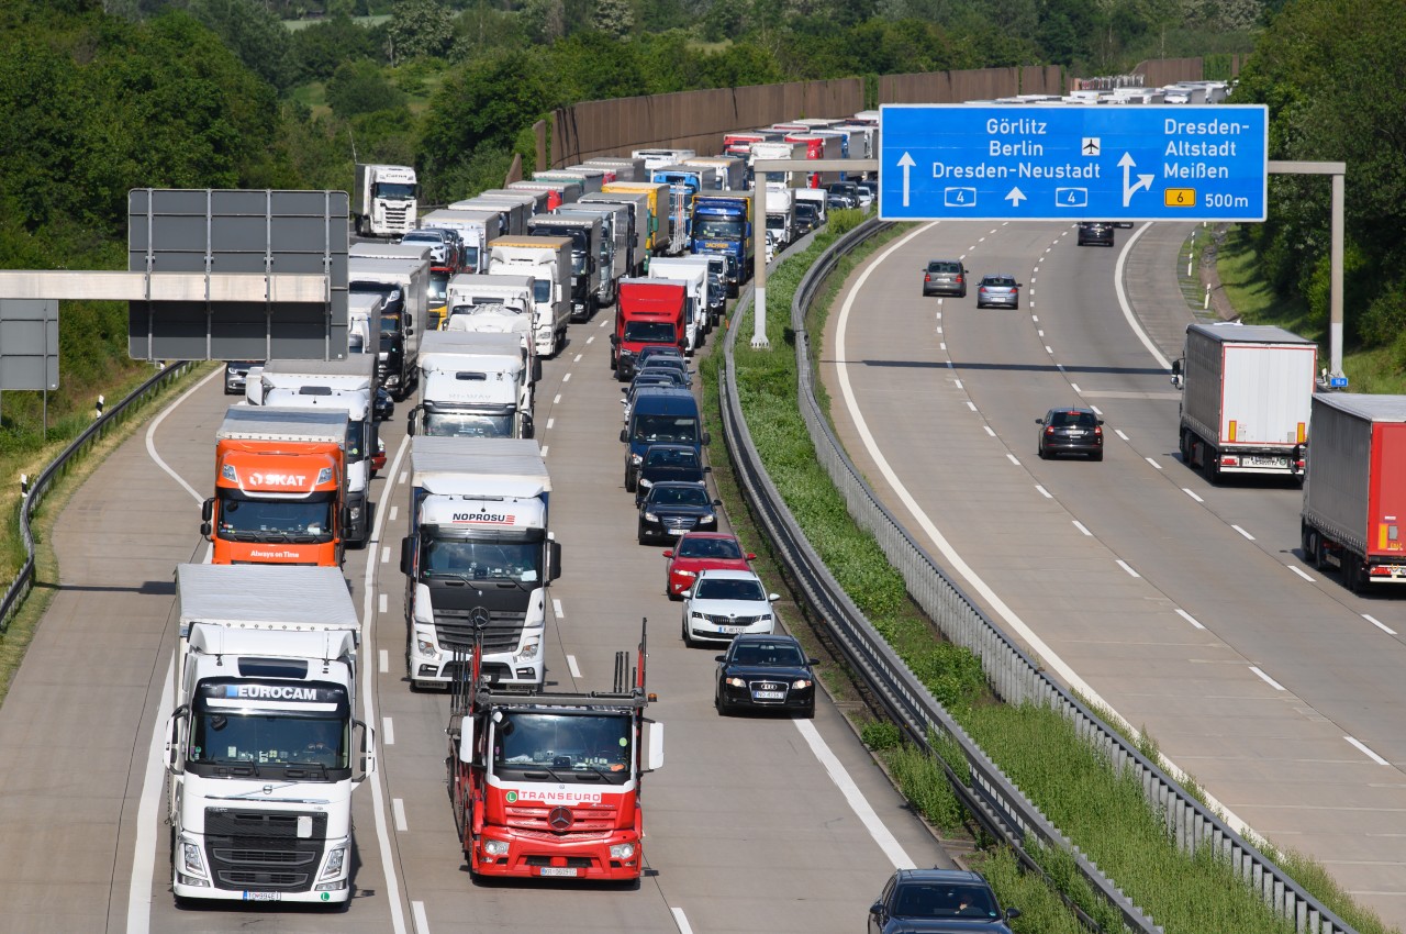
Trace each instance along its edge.
<instances>
[{"instance_id":1,"label":"black front grille of the white EUROCAM truck","mask_svg":"<svg viewBox=\"0 0 1406 934\"><path fill-rule=\"evenodd\" d=\"M298 823L311 821L308 837ZM308 892L322 865L328 816L205 809L205 857L219 889Z\"/></svg>"}]
</instances>

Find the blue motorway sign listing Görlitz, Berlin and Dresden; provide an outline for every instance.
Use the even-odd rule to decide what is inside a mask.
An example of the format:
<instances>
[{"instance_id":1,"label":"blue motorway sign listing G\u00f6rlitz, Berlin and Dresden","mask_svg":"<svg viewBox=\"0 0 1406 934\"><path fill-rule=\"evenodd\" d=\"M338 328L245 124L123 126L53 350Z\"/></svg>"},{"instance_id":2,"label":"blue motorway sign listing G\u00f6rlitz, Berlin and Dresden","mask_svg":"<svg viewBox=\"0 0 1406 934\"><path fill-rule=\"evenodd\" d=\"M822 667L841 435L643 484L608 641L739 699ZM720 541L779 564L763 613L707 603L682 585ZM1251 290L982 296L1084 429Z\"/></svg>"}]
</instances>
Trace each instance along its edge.
<instances>
[{"instance_id":1,"label":"blue motorway sign listing G\u00f6rlitz, Berlin and Dresden","mask_svg":"<svg viewBox=\"0 0 1406 934\"><path fill-rule=\"evenodd\" d=\"M1263 105L880 108L886 221L1263 221Z\"/></svg>"}]
</instances>

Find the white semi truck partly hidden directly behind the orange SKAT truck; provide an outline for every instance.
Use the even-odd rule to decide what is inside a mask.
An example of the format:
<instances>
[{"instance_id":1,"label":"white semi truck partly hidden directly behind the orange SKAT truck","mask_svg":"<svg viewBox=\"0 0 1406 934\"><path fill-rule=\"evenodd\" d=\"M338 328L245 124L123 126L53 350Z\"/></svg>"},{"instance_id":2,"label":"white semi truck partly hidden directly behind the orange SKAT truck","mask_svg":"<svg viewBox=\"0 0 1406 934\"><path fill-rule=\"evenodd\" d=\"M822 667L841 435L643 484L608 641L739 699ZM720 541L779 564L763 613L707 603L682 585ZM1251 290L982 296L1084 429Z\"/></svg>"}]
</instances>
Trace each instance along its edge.
<instances>
[{"instance_id":1,"label":"white semi truck partly hidden directly behind the orange SKAT truck","mask_svg":"<svg viewBox=\"0 0 1406 934\"><path fill-rule=\"evenodd\" d=\"M371 536L371 457L380 443L375 425L375 359L349 353L344 360L269 360L250 370L245 398L250 405L346 412L349 544L364 547Z\"/></svg>"}]
</instances>

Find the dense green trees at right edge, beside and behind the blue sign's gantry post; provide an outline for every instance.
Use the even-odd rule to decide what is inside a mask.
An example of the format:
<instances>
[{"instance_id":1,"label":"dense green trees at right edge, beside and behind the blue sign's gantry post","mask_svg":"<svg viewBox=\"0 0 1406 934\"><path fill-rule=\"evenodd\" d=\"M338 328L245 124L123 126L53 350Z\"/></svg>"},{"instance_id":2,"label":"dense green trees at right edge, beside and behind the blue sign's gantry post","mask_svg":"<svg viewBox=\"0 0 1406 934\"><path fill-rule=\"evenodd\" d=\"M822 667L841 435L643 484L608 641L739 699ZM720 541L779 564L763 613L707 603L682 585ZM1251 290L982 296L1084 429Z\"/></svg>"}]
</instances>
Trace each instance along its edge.
<instances>
[{"instance_id":1,"label":"dense green trees at right edge, beside and behind the blue sign's gantry post","mask_svg":"<svg viewBox=\"0 0 1406 934\"><path fill-rule=\"evenodd\" d=\"M1406 0L1296 0L1265 30L1236 101L1270 105L1271 159L1347 163L1347 338L1395 345L1406 362L1403 69ZM1329 212L1326 177L1272 176L1270 219L1250 231L1265 279L1305 300L1319 332L1329 311Z\"/></svg>"}]
</instances>

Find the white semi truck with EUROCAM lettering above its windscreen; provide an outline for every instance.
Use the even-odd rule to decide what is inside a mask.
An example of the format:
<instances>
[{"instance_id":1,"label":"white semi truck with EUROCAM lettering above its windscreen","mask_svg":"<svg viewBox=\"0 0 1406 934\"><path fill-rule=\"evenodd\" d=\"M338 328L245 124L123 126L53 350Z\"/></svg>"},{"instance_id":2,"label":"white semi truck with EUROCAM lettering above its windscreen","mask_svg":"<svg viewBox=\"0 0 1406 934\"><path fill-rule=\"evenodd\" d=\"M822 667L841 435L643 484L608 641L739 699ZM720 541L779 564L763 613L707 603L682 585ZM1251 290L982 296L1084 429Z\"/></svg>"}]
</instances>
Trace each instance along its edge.
<instances>
[{"instance_id":1,"label":"white semi truck with EUROCAM lettering above its windscreen","mask_svg":"<svg viewBox=\"0 0 1406 934\"><path fill-rule=\"evenodd\" d=\"M352 792L375 772L356 719L361 626L336 568L179 564L167 726L172 893L352 897Z\"/></svg>"}]
</instances>

